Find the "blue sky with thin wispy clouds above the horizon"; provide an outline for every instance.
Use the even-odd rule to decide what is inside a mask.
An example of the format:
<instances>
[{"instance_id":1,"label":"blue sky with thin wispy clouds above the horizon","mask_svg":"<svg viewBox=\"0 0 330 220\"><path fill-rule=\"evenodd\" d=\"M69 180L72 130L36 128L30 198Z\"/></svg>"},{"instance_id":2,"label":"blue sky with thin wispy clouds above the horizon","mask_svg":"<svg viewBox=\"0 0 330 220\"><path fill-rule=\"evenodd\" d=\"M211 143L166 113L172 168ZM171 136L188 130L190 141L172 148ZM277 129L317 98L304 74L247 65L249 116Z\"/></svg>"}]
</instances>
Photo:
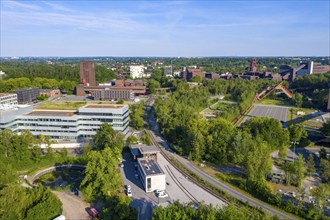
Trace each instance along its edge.
<instances>
[{"instance_id":1,"label":"blue sky with thin wispy clouds above the horizon","mask_svg":"<svg viewBox=\"0 0 330 220\"><path fill-rule=\"evenodd\" d=\"M0 1L0 56L329 56L324 1Z\"/></svg>"}]
</instances>

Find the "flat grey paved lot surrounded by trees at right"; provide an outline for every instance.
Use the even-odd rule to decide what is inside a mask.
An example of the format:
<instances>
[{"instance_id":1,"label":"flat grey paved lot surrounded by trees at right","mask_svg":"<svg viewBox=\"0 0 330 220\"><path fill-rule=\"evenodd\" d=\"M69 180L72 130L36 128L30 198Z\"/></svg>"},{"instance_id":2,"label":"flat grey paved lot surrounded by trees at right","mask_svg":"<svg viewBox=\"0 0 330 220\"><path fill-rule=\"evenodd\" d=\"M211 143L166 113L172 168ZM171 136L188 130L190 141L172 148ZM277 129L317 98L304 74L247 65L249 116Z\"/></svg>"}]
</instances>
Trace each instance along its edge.
<instances>
[{"instance_id":1,"label":"flat grey paved lot surrounded by trees at right","mask_svg":"<svg viewBox=\"0 0 330 220\"><path fill-rule=\"evenodd\" d=\"M288 121L289 107L273 106L273 105L255 105L252 110L245 116L242 123L251 117L269 117L279 121Z\"/></svg>"}]
</instances>

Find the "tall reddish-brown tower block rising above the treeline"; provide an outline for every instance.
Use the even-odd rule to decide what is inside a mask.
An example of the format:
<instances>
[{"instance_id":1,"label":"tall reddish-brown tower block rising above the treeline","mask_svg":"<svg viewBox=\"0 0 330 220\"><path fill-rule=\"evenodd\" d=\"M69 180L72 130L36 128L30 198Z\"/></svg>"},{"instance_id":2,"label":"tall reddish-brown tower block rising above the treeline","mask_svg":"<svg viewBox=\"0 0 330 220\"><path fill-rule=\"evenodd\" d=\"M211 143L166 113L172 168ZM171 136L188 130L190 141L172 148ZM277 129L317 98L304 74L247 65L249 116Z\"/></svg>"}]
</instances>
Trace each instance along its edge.
<instances>
[{"instance_id":1,"label":"tall reddish-brown tower block rising above the treeline","mask_svg":"<svg viewBox=\"0 0 330 220\"><path fill-rule=\"evenodd\" d=\"M85 86L96 86L94 62L80 62L80 83Z\"/></svg>"}]
</instances>

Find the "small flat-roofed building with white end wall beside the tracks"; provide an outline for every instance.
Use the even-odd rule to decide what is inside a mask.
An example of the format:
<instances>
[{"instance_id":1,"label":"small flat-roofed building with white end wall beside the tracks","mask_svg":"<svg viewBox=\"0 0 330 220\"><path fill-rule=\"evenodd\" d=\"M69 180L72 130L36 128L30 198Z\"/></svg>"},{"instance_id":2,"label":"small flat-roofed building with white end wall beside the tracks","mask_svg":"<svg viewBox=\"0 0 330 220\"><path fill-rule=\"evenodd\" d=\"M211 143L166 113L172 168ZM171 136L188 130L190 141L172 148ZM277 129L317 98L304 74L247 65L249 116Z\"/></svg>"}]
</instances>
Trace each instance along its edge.
<instances>
[{"instance_id":1,"label":"small flat-roofed building with white end wall beside the tracks","mask_svg":"<svg viewBox=\"0 0 330 220\"><path fill-rule=\"evenodd\" d=\"M139 178L146 192L166 189L166 175L157 163L159 149L155 146L136 144L130 146L134 160L137 161Z\"/></svg>"}]
</instances>

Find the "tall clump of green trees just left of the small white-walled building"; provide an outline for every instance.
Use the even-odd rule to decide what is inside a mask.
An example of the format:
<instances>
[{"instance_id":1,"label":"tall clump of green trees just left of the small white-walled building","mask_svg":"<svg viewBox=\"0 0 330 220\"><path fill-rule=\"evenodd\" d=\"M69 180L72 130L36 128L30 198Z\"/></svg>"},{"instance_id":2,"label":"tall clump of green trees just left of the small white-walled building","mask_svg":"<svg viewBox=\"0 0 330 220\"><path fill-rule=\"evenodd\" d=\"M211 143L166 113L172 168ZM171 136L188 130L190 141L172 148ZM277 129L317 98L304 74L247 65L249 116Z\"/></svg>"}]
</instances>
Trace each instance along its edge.
<instances>
[{"instance_id":1,"label":"tall clump of green trees just left of the small white-walled building","mask_svg":"<svg viewBox=\"0 0 330 220\"><path fill-rule=\"evenodd\" d=\"M98 129L93 142L92 150L86 155L85 177L80 184L85 200L103 202L101 219L136 219L137 211L130 207L131 199L120 193L122 179L118 165L124 136L105 123Z\"/></svg>"}]
</instances>

